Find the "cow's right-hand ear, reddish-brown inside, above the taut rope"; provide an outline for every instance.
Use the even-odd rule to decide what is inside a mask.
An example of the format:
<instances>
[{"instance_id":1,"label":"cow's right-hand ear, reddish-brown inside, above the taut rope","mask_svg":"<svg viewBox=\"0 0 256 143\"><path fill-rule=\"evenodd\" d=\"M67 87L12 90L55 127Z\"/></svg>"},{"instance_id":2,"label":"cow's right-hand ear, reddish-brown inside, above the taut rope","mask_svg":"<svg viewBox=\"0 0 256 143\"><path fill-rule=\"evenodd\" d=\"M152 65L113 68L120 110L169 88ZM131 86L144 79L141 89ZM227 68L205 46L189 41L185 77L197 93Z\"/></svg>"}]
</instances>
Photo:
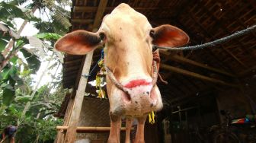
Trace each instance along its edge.
<instances>
[{"instance_id":1,"label":"cow's right-hand ear, reddish-brown inside, above the taut rope","mask_svg":"<svg viewBox=\"0 0 256 143\"><path fill-rule=\"evenodd\" d=\"M150 36L154 45L168 47L183 46L190 39L183 30L168 24L153 28Z\"/></svg>"}]
</instances>

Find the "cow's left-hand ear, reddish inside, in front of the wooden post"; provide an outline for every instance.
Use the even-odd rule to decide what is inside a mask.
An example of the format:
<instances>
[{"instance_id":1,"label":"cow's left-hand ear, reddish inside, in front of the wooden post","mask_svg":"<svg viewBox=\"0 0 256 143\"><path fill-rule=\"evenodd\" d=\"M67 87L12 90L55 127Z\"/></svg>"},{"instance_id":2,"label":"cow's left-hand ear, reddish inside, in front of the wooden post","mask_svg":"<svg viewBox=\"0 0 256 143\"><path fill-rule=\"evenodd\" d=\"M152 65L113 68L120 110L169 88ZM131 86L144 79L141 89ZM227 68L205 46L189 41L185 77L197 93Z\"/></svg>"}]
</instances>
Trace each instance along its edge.
<instances>
[{"instance_id":1,"label":"cow's left-hand ear, reddish inside, in front of the wooden post","mask_svg":"<svg viewBox=\"0 0 256 143\"><path fill-rule=\"evenodd\" d=\"M100 33L76 30L66 34L55 43L55 48L72 55L85 55L102 43Z\"/></svg>"}]
</instances>

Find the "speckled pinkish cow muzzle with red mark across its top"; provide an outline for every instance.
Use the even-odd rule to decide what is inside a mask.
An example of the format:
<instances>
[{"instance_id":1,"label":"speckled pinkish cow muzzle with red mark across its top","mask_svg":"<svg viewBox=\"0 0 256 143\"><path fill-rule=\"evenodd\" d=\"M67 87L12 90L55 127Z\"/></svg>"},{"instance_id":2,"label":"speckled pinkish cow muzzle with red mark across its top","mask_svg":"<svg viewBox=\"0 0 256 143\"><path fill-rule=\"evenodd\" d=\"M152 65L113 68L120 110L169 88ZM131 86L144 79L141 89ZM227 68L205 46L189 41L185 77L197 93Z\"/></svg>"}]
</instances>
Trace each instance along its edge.
<instances>
[{"instance_id":1,"label":"speckled pinkish cow muzzle with red mark across its top","mask_svg":"<svg viewBox=\"0 0 256 143\"><path fill-rule=\"evenodd\" d=\"M142 116L162 108L162 99L158 87L152 81L136 79L123 84L128 94L119 89L114 90L114 96L120 101L113 106L113 113L126 116Z\"/></svg>"}]
</instances>

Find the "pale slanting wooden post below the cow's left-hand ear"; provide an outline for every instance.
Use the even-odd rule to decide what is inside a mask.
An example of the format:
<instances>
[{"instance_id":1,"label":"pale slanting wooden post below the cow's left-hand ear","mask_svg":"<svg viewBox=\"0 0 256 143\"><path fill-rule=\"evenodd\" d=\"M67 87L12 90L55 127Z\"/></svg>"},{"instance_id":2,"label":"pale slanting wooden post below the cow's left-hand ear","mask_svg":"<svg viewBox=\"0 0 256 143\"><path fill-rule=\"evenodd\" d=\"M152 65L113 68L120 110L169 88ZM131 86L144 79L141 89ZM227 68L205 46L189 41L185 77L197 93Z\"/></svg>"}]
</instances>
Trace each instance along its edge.
<instances>
[{"instance_id":1,"label":"pale slanting wooden post below the cow's left-hand ear","mask_svg":"<svg viewBox=\"0 0 256 143\"><path fill-rule=\"evenodd\" d=\"M82 69L82 75L88 75L91 67L91 60L93 56L93 51L89 52L86 55L85 64ZM71 116L69 119L69 127L66 132L66 143L73 143L75 142L76 138L76 126L78 125L80 112L82 109L82 102L84 100L85 95L85 88L87 84L88 78L81 77L79 84L78 84L78 90L76 91L76 96L74 100L74 106L72 107Z\"/></svg>"}]
</instances>

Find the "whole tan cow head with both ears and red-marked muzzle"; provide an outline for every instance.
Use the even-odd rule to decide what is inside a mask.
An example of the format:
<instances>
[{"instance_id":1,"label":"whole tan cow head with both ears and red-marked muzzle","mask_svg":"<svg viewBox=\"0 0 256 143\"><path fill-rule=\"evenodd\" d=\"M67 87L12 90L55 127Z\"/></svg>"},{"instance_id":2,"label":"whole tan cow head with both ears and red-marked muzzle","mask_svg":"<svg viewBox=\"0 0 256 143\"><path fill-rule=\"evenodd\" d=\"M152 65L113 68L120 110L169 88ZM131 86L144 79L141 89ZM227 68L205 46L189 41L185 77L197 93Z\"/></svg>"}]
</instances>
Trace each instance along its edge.
<instances>
[{"instance_id":1,"label":"whole tan cow head with both ears and red-marked muzzle","mask_svg":"<svg viewBox=\"0 0 256 143\"><path fill-rule=\"evenodd\" d=\"M56 49L84 55L104 44L104 64L129 94L121 91L107 76L110 113L142 116L162 109L157 86L152 85L152 46L182 46L189 37L171 25L152 28L147 18L121 4L104 20L98 32L76 30L56 42Z\"/></svg>"}]
</instances>

